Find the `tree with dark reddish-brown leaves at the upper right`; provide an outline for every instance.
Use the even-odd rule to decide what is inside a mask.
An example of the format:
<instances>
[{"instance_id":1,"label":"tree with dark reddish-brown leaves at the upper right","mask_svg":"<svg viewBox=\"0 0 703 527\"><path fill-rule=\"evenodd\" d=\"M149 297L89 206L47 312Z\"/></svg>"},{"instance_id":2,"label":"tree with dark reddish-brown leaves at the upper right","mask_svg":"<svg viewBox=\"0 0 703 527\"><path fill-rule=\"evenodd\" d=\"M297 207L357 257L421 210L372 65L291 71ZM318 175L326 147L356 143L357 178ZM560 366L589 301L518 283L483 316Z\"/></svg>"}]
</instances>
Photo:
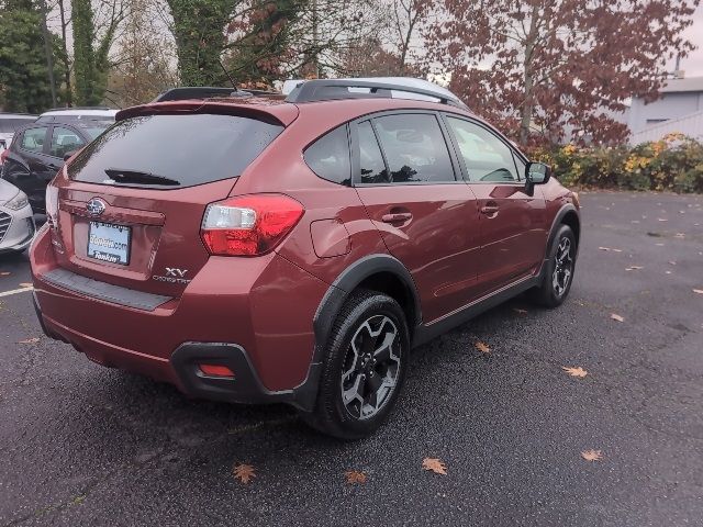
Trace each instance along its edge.
<instances>
[{"instance_id":1,"label":"tree with dark reddish-brown leaves at the upper right","mask_svg":"<svg viewBox=\"0 0 703 527\"><path fill-rule=\"evenodd\" d=\"M469 106L522 144L565 126L596 143L626 137L612 119L654 98L699 0L435 0L427 64Z\"/></svg>"}]
</instances>

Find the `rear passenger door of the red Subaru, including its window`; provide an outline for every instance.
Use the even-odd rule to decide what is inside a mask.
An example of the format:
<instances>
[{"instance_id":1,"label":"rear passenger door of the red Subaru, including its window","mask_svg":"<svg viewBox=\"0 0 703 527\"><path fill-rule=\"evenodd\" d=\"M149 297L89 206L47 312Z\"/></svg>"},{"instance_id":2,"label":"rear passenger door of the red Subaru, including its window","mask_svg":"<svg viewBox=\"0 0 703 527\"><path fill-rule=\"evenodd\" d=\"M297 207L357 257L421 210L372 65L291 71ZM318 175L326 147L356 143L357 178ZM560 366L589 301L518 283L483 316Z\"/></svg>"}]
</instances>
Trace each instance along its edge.
<instances>
[{"instance_id":1,"label":"rear passenger door of the red Subaru, including its window","mask_svg":"<svg viewBox=\"0 0 703 527\"><path fill-rule=\"evenodd\" d=\"M376 115L352 126L354 184L391 255L411 272L423 319L472 298L478 211L434 112Z\"/></svg>"}]
</instances>

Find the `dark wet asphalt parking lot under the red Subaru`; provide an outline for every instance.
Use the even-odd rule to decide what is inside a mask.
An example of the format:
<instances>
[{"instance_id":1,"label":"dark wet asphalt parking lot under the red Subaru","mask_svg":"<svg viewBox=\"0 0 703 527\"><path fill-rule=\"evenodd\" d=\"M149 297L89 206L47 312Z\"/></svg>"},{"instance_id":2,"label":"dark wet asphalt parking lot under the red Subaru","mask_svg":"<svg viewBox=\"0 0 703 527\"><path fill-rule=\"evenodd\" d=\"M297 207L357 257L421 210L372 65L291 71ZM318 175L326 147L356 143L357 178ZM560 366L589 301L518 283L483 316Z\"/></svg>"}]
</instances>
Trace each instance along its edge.
<instances>
[{"instance_id":1,"label":"dark wet asphalt parking lot under the red Subaru","mask_svg":"<svg viewBox=\"0 0 703 527\"><path fill-rule=\"evenodd\" d=\"M703 197L582 203L565 305L518 298L417 349L352 444L91 363L3 295L29 262L0 257L0 526L703 525Z\"/></svg>"}]
</instances>

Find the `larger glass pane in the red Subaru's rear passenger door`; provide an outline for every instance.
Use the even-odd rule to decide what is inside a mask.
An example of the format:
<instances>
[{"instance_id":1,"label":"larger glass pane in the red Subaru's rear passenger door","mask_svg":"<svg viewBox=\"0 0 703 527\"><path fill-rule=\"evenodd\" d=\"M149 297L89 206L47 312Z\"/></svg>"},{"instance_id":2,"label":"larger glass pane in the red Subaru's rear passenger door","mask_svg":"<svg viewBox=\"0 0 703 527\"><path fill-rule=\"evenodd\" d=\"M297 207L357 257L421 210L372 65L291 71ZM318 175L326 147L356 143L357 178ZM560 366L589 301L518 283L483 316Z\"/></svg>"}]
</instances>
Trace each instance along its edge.
<instances>
[{"instance_id":1,"label":"larger glass pane in the red Subaru's rear passenger door","mask_svg":"<svg viewBox=\"0 0 703 527\"><path fill-rule=\"evenodd\" d=\"M392 183L455 181L447 144L431 114L387 115L373 120Z\"/></svg>"}]
</instances>

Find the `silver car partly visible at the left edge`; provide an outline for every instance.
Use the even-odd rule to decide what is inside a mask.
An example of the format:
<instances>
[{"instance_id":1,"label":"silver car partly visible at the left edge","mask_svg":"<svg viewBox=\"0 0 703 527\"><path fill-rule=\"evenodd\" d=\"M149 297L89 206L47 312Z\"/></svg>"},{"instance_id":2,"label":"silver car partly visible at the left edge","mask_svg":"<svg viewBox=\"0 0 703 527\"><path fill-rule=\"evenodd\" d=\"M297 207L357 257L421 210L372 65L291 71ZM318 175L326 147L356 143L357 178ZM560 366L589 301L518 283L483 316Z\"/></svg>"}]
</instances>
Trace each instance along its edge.
<instances>
[{"instance_id":1,"label":"silver car partly visible at the left edge","mask_svg":"<svg viewBox=\"0 0 703 527\"><path fill-rule=\"evenodd\" d=\"M0 254L26 249L34 231L34 215L26 194L0 179Z\"/></svg>"}]
</instances>

